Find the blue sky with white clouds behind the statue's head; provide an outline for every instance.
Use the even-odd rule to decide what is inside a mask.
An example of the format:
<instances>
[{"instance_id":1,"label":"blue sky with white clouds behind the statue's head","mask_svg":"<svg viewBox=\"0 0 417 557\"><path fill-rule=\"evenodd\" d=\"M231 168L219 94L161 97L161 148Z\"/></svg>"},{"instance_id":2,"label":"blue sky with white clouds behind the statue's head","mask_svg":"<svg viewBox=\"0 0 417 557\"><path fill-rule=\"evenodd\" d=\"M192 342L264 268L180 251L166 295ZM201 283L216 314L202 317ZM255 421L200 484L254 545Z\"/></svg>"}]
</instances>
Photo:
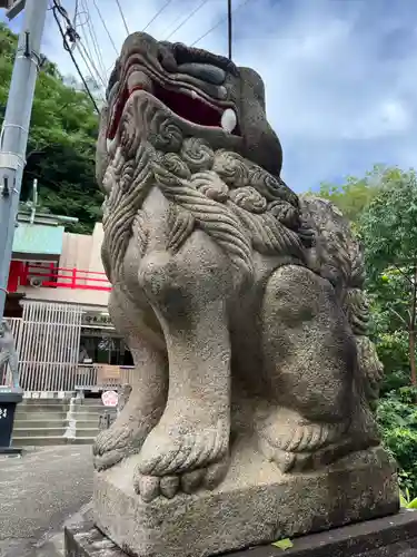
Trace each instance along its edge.
<instances>
[{"instance_id":1,"label":"blue sky with white clouds behind the statue's head","mask_svg":"<svg viewBox=\"0 0 417 557\"><path fill-rule=\"evenodd\" d=\"M75 0L61 0L70 16ZM89 8L106 68L116 53L93 0ZM129 30L141 30L167 0L120 0ZM165 39L202 0L171 0L147 29ZM119 48L126 30L116 0L97 0ZM206 0L169 40L191 43L226 13ZM240 6L240 8L239 8ZM376 163L416 166L416 0L234 0L234 59L266 82L268 118L284 147L282 176L302 192L320 182L361 176ZM79 22L86 23L81 14ZM18 30L20 18L12 23ZM87 25L80 29L80 35ZM75 74L51 13L43 52ZM227 53L224 21L198 42ZM92 47L91 47L92 50ZM97 61L97 60L96 60ZM87 69L80 60L87 74Z\"/></svg>"}]
</instances>

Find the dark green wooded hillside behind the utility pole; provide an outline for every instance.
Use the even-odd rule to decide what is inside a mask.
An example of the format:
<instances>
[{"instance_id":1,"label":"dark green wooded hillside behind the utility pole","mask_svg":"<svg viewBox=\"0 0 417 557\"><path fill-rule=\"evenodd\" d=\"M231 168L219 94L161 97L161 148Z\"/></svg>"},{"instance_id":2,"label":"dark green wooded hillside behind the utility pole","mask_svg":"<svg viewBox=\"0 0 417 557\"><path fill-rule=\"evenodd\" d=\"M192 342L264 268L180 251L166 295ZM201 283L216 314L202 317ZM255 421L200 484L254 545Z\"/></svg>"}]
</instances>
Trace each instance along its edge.
<instances>
[{"instance_id":1,"label":"dark green wooded hillside behind the utility pole","mask_svg":"<svg viewBox=\"0 0 417 557\"><path fill-rule=\"evenodd\" d=\"M17 37L0 23L0 125L16 47ZM95 178L98 116L86 91L75 85L44 61L36 87L21 197L31 195L37 178L42 208L78 217L72 232L89 232L100 218L102 204Z\"/></svg>"}]
</instances>

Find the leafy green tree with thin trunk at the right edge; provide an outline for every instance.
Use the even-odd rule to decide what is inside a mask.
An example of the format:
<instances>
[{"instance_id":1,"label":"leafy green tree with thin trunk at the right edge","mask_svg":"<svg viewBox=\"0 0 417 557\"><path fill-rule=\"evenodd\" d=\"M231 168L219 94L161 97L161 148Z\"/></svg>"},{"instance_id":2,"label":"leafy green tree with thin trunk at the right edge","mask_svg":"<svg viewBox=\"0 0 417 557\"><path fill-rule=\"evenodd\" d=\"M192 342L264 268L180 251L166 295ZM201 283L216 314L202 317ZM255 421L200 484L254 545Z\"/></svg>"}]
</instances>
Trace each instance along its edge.
<instances>
[{"instance_id":1,"label":"leafy green tree with thin trunk at the right edge","mask_svg":"<svg viewBox=\"0 0 417 557\"><path fill-rule=\"evenodd\" d=\"M417 384L417 176L386 172L379 193L359 219L367 286L379 310L379 331L408 339L410 379Z\"/></svg>"}]
</instances>

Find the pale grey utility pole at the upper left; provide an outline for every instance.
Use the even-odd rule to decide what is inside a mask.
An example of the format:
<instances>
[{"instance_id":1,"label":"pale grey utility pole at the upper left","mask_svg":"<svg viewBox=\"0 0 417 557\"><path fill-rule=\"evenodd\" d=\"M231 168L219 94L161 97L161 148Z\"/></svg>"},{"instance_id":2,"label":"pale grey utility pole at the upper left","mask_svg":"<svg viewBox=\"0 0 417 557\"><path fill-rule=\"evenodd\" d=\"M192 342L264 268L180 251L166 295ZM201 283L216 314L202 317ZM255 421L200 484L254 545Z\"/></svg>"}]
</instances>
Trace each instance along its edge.
<instances>
[{"instance_id":1,"label":"pale grey utility pole at the upper left","mask_svg":"<svg viewBox=\"0 0 417 557\"><path fill-rule=\"evenodd\" d=\"M1 7L7 2L2 1ZM9 0L24 7L23 27L11 76L4 123L0 136L0 323L4 314L9 267L13 248L16 218L26 165L29 125L34 86L41 62L40 46L47 18L48 0Z\"/></svg>"}]
</instances>

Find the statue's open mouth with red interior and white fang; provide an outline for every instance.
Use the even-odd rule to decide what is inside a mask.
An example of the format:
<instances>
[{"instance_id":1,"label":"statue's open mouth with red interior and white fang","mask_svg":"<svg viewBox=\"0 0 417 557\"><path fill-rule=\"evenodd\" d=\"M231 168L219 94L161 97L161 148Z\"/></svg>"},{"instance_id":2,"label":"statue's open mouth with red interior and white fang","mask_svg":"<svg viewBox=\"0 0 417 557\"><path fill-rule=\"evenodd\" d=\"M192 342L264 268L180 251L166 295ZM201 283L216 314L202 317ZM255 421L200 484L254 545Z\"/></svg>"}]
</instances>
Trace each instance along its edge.
<instances>
[{"instance_id":1,"label":"statue's open mouth with red interior and white fang","mask_svg":"<svg viewBox=\"0 0 417 557\"><path fill-rule=\"evenodd\" d=\"M236 110L226 102L218 102L207 95L198 91L190 84L162 81L159 76L152 75L143 68L131 68L125 86L115 95L110 102L110 120L107 139L112 141L117 135L123 109L135 91L143 90L151 94L167 108L180 118L199 126L221 128L226 133L240 136ZM153 72L152 72L153 74ZM111 94L110 94L111 97Z\"/></svg>"}]
</instances>

